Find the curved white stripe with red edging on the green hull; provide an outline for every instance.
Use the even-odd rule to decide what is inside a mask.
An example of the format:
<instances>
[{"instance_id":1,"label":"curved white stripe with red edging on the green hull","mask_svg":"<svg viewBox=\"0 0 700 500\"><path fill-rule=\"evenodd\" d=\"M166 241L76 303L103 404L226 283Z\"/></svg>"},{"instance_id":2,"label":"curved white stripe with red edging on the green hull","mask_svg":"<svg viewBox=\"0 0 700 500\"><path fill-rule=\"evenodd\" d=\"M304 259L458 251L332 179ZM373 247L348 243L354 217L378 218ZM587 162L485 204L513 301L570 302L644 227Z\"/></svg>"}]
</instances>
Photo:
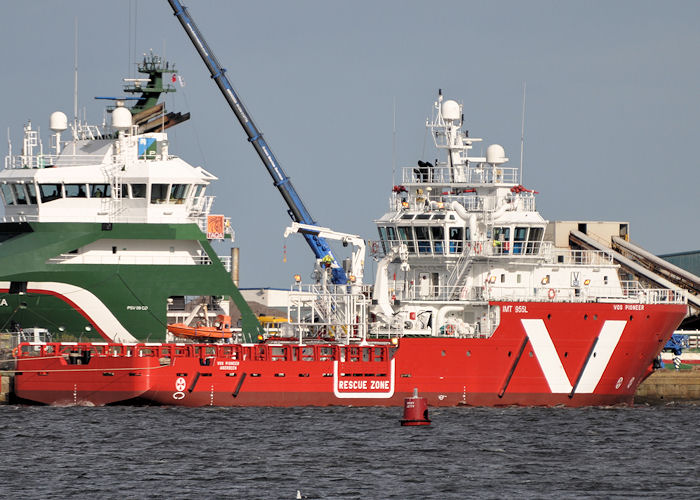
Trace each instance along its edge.
<instances>
[{"instance_id":1,"label":"curved white stripe with red edging on the green hull","mask_svg":"<svg viewBox=\"0 0 700 500\"><path fill-rule=\"evenodd\" d=\"M0 288L9 289L9 281L0 281ZM75 304L78 311L86 317L99 333L112 342L138 342L109 308L92 292L68 283L55 281L30 281L27 283L27 293L44 293L55 295L67 303ZM89 313L88 313L89 311Z\"/></svg>"}]
</instances>

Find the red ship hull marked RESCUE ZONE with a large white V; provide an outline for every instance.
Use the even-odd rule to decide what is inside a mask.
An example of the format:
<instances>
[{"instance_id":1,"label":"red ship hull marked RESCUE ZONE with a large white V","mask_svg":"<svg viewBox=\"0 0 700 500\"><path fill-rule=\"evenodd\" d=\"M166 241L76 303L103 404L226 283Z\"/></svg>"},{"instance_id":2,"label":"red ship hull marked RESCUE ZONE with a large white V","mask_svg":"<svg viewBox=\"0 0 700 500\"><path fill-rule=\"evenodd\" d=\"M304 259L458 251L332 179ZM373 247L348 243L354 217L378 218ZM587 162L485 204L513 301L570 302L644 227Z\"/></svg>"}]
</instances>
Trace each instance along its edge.
<instances>
[{"instance_id":1,"label":"red ship hull marked RESCUE ZONE with a large white V","mask_svg":"<svg viewBox=\"0 0 700 500\"><path fill-rule=\"evenodd\" d=\"M501 321L489 338L142 346L139 359L155 364L139 381L148 385L141 397L182 406L401 406L417 388L431 406L631 404L686 314L681 304L494 305ZM64 397L90 376L68 373L55 390ZM32 399L29 379L17 380L18 394Z\"/></svg>"}]
</instances>

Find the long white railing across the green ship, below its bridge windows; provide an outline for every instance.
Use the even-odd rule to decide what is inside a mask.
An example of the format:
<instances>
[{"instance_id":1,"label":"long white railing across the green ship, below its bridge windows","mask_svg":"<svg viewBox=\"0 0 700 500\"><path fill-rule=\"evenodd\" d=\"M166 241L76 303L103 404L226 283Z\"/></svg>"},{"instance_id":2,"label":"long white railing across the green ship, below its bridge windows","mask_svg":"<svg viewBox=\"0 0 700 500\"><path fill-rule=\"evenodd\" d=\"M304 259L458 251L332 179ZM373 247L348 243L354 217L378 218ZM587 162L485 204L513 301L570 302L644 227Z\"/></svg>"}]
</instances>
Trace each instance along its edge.
<instances>
[{"instance_id":1,"label":"long white railing across the green ship, below its bridge windows","mask_svg":"<svg viewBox=\"0 0 700 500\"><path fill-rule=\"evenodd\" d=\"M231 256L218 255L219 261L231 271ZM64 253L52 257L49 264L112 264L137 266L210 266L211 259L207 255L124 255L124 254L73 254Z\"/></svg>"}]
</instances>

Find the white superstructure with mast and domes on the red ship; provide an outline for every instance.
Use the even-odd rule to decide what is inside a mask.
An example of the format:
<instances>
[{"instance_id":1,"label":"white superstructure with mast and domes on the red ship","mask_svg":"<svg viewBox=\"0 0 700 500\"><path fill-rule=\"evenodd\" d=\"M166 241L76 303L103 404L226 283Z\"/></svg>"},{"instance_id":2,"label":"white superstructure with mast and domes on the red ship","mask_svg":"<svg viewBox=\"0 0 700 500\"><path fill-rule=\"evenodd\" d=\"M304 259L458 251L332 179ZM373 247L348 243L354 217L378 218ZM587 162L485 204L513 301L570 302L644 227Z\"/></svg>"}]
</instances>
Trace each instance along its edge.
<instances>
[{"instance_id":1,"label":"white superstructure with mast and domes on the red ship","mask_svg":"<svg viewBox=\"0 0 700 500\"><path fill-rule=\"evenodd\" d=\"M440 94L426 126L442 159L401 170L389 211L375 221L379 240L368 245L378 260L374 286L335 287L323 276L308 288L298 285L294 290L318 296L299 294L294 304L292 294L291 316L302 328L308 318L325 325L315 328L332 327L335 319L345 325L336 331L360 336L487 337L501 307L526 302L685 300L621 280L604 252L544 241L547 221L536 211L537 193L520 184L502 146L470 155L482 139L462 129L461 104ZM368 324L358 320L364 317Z\"/></svg>"}]
</instances>

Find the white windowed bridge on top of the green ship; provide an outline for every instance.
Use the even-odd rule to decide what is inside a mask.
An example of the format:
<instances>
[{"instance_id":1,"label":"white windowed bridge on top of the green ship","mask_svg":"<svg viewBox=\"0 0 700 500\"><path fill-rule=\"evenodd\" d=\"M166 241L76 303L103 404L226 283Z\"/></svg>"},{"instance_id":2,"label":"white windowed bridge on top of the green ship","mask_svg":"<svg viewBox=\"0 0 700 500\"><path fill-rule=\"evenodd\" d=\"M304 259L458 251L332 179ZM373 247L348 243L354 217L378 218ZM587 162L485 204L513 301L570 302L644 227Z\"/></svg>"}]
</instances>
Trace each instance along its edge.
<instances>
[{"instance_id":1,"label":"white windowed bridge on top of the green ship","mask_svg":"<svg viewBox=\"0 0 700 500\"><path fill-rule=\"evenodd\" d=\"M214 201L206 189L216 177L171 155L167 134L82 127L80 138L54 144L44 154L36 131L25 127L22 154L8 155L0 172L4 222L194 222L206 228ZM229 221L224 227L232 235Z\"/></svg>"}]
</instances>

